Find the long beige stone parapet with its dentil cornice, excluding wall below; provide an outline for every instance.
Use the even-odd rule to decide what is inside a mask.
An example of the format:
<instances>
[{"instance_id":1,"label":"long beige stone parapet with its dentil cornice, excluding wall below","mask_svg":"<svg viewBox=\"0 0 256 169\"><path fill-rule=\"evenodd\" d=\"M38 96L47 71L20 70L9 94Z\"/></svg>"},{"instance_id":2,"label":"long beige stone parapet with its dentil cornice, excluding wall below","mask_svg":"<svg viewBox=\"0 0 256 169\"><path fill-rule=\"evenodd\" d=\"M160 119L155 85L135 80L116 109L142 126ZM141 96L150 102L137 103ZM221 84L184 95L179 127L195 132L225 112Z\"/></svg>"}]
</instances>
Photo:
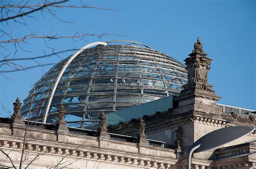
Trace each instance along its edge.
<instances>
[{"instance_id":1,"label":"long beige stone parapet with its dentil cornice, excluding wall below","mask_svg":"<svg viewBox=\"0 0 256 169\"><path fill-rule=\"evenodd\" d=\"M23 129L20 125L10 127L1 123L1 149L21 153L22 136L15 133L24 133ZM68 154L69 158L90 158L104 160L104 163L138 167L173 167L178 161L176 152L172 149L36 128L28 129L25 149L31 153L45 153L46 156L60 157Z\"/></svg>"}]
</instances>

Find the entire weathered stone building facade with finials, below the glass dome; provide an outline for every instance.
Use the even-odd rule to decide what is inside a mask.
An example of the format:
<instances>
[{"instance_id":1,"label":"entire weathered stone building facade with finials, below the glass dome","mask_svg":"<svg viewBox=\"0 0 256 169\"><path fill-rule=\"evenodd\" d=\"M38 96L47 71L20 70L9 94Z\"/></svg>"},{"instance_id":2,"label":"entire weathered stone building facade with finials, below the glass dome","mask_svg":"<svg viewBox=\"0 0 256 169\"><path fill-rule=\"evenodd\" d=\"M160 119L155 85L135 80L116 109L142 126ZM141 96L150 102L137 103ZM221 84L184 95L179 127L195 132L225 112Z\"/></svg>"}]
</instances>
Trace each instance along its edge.
<instances>
[{"instance_id":1,"label":"entire weathered stone building facade with finials, below the glass dome","mask_svg":"<svg viewBox=\"0 0 256 169\"><path fill-rule=\"evenodd\" d=\"M185 59L188 83L173 108L123 122L107 129L104 112L99 129L67 127L65 110L58 110L56 124L22 121L21 104L14 115L0 118L0 164L29 168L187 168L185 150L207 133L228 126L255 126L253 115L219 109L207 75L211 59L199 38ZM25 137L24 137L25 136ZM256 168L256 132L217 149L194 153L193 168ZM166 146L169 145L169 146Z\"/></svg>"}]
</instances>

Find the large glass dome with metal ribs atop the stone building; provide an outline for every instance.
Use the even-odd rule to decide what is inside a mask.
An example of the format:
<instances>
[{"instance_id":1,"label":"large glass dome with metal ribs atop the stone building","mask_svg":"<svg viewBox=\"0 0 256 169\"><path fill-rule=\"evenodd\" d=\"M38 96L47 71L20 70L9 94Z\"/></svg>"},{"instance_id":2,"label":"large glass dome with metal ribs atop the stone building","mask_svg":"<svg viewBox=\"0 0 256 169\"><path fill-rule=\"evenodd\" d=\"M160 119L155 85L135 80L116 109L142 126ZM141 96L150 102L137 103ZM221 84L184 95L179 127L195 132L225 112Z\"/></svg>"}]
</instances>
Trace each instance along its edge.
<instances>
[{"instance_id":1,"label":"large glass dome with metal ribs atop the stone building","mask_svg":"<svg viewBox=\"0 0 256 169\"><path fill-rule=\"evenodd\" d=\"M46 72L24 100L24 119L55 122L63 104L65 121L84 128L100 111L107 114L179 95L187 83L185 66L164 53L134 41L102 44L70 61L71 55Z\"/></svg>"}]
</instances>

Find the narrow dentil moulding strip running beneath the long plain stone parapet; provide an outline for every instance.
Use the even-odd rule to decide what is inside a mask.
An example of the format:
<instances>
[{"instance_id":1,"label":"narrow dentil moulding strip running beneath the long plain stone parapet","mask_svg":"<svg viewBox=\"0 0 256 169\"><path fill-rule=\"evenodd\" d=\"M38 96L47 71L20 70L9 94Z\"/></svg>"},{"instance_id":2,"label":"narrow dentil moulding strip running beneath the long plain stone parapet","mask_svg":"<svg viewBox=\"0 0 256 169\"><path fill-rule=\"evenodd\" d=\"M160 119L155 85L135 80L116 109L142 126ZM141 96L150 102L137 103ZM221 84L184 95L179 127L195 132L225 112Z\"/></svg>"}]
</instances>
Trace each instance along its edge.
<instances>
[{"instance_id":1,"label":"narrow dentil moulding strip running beneath the long plain stone parapet","mask_svg":"<svg viewBox=\"0 0 256 169\"><path fill-rule=\"evenodd\" d=\"M23 143L19 140L9 140L1 138L0 146L3 150L11 151L22 151ZM104 160L109 163L120 163L141 167L173 167L176 165L178 159L175 158L164 158L149 156L145 154L134 154L127 153L122 151L111 151L108 149L102 148L93 148L86 146L67 146L65 143L46 143L46 142L37 142L37 143L26 143L26 151L35 152L35 153L45 153L52 154L54 156L63 156L68 154L69 158L90 158L90 160ZM152 147L150 147L152 149Z\"/></svg>"}]
</instances>

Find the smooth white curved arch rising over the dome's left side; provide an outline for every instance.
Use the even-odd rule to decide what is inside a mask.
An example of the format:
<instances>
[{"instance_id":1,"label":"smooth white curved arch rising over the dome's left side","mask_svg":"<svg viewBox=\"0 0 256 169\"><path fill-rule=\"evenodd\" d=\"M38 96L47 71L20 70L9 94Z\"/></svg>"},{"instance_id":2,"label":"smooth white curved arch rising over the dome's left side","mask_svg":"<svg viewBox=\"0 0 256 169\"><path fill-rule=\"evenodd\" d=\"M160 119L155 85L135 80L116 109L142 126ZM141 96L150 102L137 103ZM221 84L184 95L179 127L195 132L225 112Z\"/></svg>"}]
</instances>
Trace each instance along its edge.
<instances>
[{"instance_id":1,"label":"smooth white curved arch rising over the dome's left side","mask_svg":"<svg viewBox=\"0 0 256 169\"><path fill-rule=\"evenodd\" d=\"M77 57L78 54L80 54L81 52L83 52L87 48L95 46L95 45L105 45L105 46L107 46L107 43L104 43L102 41L96 41L95 43L91 43L91 44L85 45L84 47L80 48L80 50L78 50L75 54L73 54L72 57L70 57L69 60L66 62L66 64L63 66L63 68L59 72L59 74L58 74L58 76L56 78L56 81L55 81L55 83L53 85L53 88L51 90L51 95L50 95L50 97L48 99L48 103L47 103L46 109L45 109L43 123L46 123L46 119L47 119L47 116L48 116L49 109L51 107L51 102L52 102L53 95L55 94L55 91L56 91L56 88L57 88L57 86L59 84L60 78L62 78L62 75L65 72L66 68Z\"/></svg>"}]
</instances>

